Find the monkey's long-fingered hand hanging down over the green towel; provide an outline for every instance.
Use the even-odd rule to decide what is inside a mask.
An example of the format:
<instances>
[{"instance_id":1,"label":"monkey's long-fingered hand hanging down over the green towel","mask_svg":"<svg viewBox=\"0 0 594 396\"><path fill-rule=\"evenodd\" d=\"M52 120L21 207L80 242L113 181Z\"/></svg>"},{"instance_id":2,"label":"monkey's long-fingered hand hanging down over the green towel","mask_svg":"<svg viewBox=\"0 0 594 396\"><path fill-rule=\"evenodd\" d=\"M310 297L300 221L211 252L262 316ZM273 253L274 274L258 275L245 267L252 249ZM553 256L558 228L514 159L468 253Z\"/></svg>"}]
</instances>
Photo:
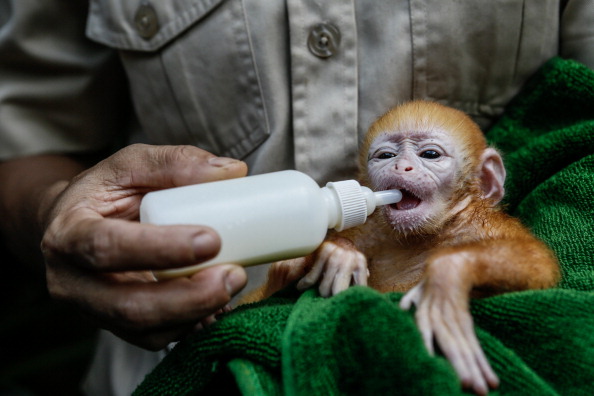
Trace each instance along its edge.
<instances>
[{"instance_id":1,"label":"monkey's long-fingered hand hanging down over the green towel","mask_svg":"<svg viewBox=\"0 0 594 396\"><path fill-rule=\"evenodd\" d=\"M474 332L464 276L457 276L458 271L453 270L456 266L449 264L430 266L428 276L406 293L400 307L409 310L416 306L415 318L429 353L434 354L435 340L463 387L485 395L489 387L499 385L499 379ZM436 268L440 269L435 271Z\"/></svg>"}]
</instances>

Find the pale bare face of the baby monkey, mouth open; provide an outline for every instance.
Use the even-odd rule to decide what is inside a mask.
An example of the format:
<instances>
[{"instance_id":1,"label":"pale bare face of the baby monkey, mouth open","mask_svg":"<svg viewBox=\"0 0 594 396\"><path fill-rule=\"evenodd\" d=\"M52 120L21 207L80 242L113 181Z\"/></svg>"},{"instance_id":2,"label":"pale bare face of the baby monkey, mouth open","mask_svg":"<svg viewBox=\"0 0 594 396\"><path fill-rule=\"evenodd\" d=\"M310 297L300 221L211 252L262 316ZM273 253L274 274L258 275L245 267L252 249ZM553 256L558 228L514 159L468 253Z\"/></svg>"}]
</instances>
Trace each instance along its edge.
<instances>
[{"instance_id":1,"label":"pale bare face of the baby monkey, mouth open","mask_svg":"<svg viewBox=\"0 0 594 396\"><path fill-rule=\"evenodd\" d=\"M447 131L381 133L368 152L372 188L402 190L398 204L385 207L391 227L402 233L430 232L451 209L461 169L460 150Z\"/></svg>"}]
</instances>

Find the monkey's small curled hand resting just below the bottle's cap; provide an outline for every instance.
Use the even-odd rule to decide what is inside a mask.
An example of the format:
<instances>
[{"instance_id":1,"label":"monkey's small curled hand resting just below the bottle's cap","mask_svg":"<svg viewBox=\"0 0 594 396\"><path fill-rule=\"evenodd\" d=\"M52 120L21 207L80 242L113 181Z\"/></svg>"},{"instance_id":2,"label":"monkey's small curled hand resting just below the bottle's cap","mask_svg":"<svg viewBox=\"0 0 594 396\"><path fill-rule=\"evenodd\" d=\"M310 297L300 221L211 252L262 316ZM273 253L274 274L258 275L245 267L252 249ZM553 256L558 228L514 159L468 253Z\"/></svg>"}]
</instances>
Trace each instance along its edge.
<instances>
[{"instance_id":1,"label":"monkey's small curled hand resting just below the bottle's cap","mask_svg":"<svg viewBox=\"0 0 594 396\"><path fill-rule=\"evenodd\" d=\"M320 295L329 297L351 284L367 286L367 259L348 239L324 242L312 258L313 265L297 283L298 289L304 290L319 282Z\"/></svg>"}]
</instances>

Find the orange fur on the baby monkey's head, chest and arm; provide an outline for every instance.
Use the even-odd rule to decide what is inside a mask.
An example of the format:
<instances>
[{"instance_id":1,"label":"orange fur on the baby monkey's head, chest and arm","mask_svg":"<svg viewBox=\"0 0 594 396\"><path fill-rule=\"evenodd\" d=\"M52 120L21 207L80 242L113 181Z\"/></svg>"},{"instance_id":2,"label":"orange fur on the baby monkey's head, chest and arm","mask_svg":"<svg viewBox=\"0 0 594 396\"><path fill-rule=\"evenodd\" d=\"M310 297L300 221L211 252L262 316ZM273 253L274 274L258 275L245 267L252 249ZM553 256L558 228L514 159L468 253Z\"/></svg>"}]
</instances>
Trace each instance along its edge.
<instances>
[{"instance_id":1,"label":"orange fur on the baby monkey's head, chest and arm","mask_svg":"<svg viewBox=\"0 0 594 396\"><path fill-rule=\"evenodd\" d=\"M349 249L351 247L336 239L337 236L346 238L350 241L348 245L363 252L370 270L368 284L383 292L409 290L423 276L431 276L431 271L436 271L428 270L433 261L456 253L472 258L465 271L471 283L468 287L475 290L475 294L555 285L560 272L554 254L519 221L480 197L480 158L487 144L479 127L464 113L425 101L406 103L387 112L369 128L362 143L361 182L371 184L367 173L368 150L378 136L435 129L448 131L464 155L464 169L459 172L464 180L459 181L452 200L455 203L469 197L468 204L453 215L442 213L447 219L432 234L395 233L382 211L377 210L366 224L338 235L330 233L328 240L342 243ZM312 257L315 255L313 253ZM307 268L293 269L291 273L306 272L312 262L311 258L299 262ZM287 272L286 265L273 266L269 287L259 297L266 297L294 281L297 276L287 276Z\"/></svg>"}]
</instances>

